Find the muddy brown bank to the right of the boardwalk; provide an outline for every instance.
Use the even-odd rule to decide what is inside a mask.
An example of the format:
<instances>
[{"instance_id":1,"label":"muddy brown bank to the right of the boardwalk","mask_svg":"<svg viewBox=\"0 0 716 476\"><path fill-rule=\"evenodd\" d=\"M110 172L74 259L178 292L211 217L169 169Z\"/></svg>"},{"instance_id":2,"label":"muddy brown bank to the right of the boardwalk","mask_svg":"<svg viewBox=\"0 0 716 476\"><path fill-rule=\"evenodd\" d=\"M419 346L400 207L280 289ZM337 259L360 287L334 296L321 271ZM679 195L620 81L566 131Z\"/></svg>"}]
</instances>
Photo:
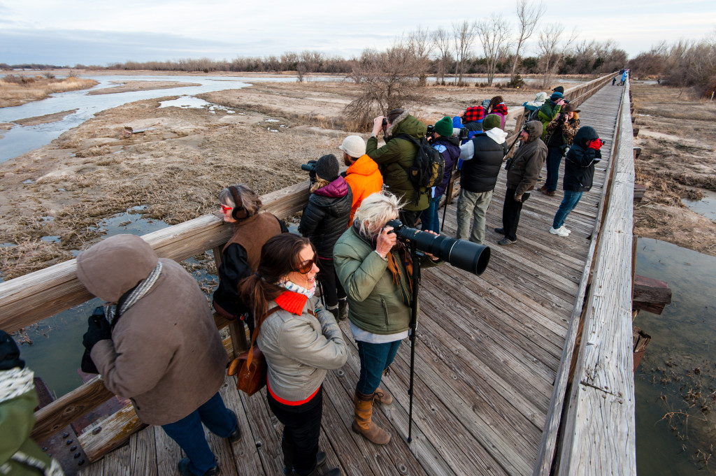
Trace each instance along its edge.
<instances>
[{"instance_id":1,"label":"muddy brown bank to the right of the boardwalk","mask_svg":"<svg viewBox=\"0 0 716 476\"><path fill-rule=\"evenodd\" d=\"M687 208L698 188L716 191L716 103L691 100L679 89L633 84L639 127L634 145L637 183L647 185L634 208L635 233L716 256L716 222Z\"/></svg>"}]
</instances>

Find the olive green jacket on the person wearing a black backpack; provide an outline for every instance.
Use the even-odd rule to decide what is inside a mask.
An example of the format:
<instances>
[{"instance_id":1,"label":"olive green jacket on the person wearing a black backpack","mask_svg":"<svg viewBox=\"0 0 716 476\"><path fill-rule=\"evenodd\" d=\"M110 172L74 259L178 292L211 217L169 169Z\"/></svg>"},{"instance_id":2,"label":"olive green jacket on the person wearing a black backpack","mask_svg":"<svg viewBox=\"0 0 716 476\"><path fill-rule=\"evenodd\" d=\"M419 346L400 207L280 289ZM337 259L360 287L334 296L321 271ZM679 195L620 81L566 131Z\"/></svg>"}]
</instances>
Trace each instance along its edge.
<instances>
[{"instance_id":1,"label":"olive green jacket on the person wearing a black backpack","mask_svg":"<svg viewBox=\"0 0 716 476\"><path fill-rule=\"evenodd\" d=\"M425 137L425 124L410 115L407 111L396 117L395 122L385 131L385 145L378 147L376 137L371 137L366 145L366 154L378 164L380 173L383 175L383 182L387 185L390 193L397 195L405 203L403 210L416 211L425 210L429 205L428 191L425 187L420 188L420 197L415 204L415 187L408 178L406 170L410 170L417 145L407 139L397 137L401 134L420 140Z\"/></svg>"}]
</instances>

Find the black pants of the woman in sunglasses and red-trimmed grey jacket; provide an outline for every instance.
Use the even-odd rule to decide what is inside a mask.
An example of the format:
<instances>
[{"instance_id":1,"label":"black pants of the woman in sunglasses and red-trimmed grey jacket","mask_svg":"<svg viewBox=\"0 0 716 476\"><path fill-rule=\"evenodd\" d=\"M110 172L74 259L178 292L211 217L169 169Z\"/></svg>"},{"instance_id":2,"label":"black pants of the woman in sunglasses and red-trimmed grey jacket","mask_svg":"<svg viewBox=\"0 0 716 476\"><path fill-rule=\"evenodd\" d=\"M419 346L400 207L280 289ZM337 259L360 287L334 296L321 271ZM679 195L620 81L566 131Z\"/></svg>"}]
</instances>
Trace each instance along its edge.
<instances>
[{"instance_id":1,"label":"black pants of the woman in sunglasses and red-trimmed grey jacket","mask_svg":"<svg viewBox=\"0 0 716 476\"><path fill-rule=\"evenodd\" d=\"M323 387L309 402L296 407L277 402L266 392L269 408L279 422L284 424L284 464L291 471L293 465L296 474L306 476L316 467L318 439L321 436L321 416L323 414ZM289 453L293 453L290 455Z\"/></svg>"}]
</instances>

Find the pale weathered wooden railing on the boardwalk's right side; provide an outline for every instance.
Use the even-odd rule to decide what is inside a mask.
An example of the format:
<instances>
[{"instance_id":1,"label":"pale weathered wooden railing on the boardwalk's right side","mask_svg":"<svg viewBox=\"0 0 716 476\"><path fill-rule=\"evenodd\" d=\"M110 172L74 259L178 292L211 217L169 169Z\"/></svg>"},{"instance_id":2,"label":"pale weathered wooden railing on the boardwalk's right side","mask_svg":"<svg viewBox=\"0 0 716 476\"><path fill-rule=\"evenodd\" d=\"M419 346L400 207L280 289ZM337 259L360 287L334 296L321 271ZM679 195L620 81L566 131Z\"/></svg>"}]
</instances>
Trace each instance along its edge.
<instances>
[{"instance_id":1,"label":"pale weathered wooden railing on the boardwalk's right side","mask_svg":"<svg viewBox=\"0 0 716 476\"><path fill-rule=\"evenodd\" d=\"M616 117L594 238L533 476L637 474L632 372L633 145L627 84Z\"/></svg>"}]
</instances>

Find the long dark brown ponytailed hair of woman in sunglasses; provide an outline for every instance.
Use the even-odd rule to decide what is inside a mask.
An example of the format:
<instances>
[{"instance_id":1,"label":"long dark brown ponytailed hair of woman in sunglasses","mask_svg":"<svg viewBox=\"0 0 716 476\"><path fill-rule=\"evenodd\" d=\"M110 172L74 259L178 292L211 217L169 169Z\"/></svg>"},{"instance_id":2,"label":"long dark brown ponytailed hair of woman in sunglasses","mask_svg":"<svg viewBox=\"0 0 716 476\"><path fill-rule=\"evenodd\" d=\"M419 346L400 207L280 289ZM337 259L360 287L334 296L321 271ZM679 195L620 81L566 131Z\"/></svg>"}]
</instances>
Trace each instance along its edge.
<instances>
[{"instance_id":1,"label":"long dark brown ponytailed hair of woman in sunglasses","mask_svg":"<svg viewBox=\"0 0 716 476\"><path fill-rule=\"evenodd\" d=\"M276 283L291 271L296 271L301 265L300 254L305 246L310 246L316 251L313 243L304 236L295 233L272 236L269 241L263 243L261 261L258 263L256 273L243 278L238 283L241 299L253 309L256 329L261 326L258 320L269 310L269 301L273 301L286 291Z\"/></svg>"}]
</instances>

